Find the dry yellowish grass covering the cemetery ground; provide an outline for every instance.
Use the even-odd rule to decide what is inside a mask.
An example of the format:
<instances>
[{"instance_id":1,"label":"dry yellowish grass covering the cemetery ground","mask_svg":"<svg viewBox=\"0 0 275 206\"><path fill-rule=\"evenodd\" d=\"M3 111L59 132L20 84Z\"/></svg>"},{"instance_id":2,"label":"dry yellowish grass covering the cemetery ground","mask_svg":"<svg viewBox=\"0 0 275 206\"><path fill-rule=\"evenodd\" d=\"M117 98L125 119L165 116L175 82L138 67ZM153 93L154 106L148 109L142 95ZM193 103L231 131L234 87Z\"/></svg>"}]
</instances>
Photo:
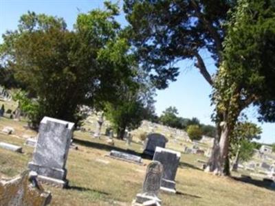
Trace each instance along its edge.
<instances>
[{"instance_id":1,"label":"dry yellowish grass covering the cemetery ground","mask_svg":"<svg viewBox=\"0 0 275 206\"><path fill-rule=\"evenodd\" d=\"M27 132L22 122L1 118L0 126L12 126L18 136ZM30 132L30 131L28 131ZM33 134L35 134L32 131ZM106 138L94 139L89 133L74 133L78 150L70 150L66 168L69 188L61 190L50 185L45 189L52 192L51 205L130 205L137 192L141 191L146 165L135 165L106 157L112 149L139 154L141 144L115 139L115 146L106 144ZM14 176L27 168L34 148L24 146L25 139L0 135L0 141L23 146L23 154L0 149L0 176ZM177 144L168 144L176 148ZM213 176L201 171L197 159L200 155L181 154L177 170L177 194L160 192L162 205L274 205L275 191L264 185L244 183L233 178ZM234 174L239 176L239 174ZM241 179L239 179L241 180ZM254 182L256 184L256 182Z\"/></svg>"}]
</instances>

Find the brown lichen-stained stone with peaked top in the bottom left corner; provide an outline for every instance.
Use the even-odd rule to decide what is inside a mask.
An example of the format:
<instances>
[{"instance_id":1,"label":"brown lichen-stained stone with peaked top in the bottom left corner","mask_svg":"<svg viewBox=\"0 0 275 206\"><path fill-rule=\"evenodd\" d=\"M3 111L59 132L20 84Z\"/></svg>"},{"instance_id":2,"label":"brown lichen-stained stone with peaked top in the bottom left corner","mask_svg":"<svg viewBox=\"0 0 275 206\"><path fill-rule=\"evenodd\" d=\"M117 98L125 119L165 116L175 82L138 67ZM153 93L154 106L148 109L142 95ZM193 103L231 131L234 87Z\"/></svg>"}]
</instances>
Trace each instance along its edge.
<instances>
[{"instance_id":1,"label":"brown lichen-stained stone with peaked top in the bottom left corner","mask_svg":"<svg viewBox=\"0 0 275 206\"><path fill-rule=\"evenodd\" d=\"M0 205L5 206L45 206L52 196L45 192L36 179L35 172L25 171L10 180L0 180Z\"/></svg>"}]
</instances>

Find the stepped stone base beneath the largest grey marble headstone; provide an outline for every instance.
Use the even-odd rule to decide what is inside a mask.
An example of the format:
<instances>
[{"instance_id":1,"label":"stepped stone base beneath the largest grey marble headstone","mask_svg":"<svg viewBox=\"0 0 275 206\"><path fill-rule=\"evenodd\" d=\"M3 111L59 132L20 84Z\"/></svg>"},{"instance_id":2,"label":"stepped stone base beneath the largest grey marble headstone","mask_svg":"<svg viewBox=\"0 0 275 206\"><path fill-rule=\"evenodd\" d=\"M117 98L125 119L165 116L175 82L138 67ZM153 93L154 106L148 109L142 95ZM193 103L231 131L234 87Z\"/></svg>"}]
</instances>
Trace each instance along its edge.
<instances>
[{"instance_id":1,"label":"stepped stone base beneath the largest grey marble headstone","mask_svg":"<svg viewBox=\"0 0 275 206\"><path fill-rule=\"evenodd\" d=\"M47 176L53 179L58 179L61 181L65 181L67 176L67 170L66 169L58 169L58 168L48 168L43 165L37 165L34 162L28 163L28 168L30 170L37 172L37 174L42 176Z\"/></svg>"}]
</instances>

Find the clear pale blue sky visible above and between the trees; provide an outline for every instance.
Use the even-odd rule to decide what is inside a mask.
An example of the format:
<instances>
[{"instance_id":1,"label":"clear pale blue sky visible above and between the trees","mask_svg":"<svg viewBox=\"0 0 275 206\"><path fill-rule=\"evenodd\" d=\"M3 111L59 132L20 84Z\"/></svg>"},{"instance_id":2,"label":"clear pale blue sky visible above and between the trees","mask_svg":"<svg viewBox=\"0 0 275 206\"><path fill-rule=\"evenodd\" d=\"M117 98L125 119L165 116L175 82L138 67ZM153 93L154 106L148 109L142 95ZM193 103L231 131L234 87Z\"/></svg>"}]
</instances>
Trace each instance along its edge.
<instances>
[{"instance_id":1,"label":"clear pale blue sky visible above and between the trees","mask_svg":"<svg viewBox=\"0 0 275 206\"><path fill-rule=\"evenodd\" d=\"M122 0L120 0L122 5ZM77 15L96 8L103 8L103 0L0 0L0 34L7 30L17 29L19 18L22 14L34 11L37 14L63 17L69 30L73 29ZM118 16L117 20L126 25L124 15ZM0 38L0 43L3 39ZM210 73L216 68L207 52L201 55L206 61ZM157 91L155 97L155 109L157 115L161 115L168 106L175 106L179 116L185 118L197 117L203 124L213 124L211 114L213 107L210 106L209 95L211 87L203 79L199 71L193 66L194 62L184 60L177 63L180 74L176 82L170 82L168 89ZM248 120L261 126L263 133L260 142L270 144L275 142L275 124L257 122L256 108L250 107L245 110Z\"/></svg>"}]
</instances>

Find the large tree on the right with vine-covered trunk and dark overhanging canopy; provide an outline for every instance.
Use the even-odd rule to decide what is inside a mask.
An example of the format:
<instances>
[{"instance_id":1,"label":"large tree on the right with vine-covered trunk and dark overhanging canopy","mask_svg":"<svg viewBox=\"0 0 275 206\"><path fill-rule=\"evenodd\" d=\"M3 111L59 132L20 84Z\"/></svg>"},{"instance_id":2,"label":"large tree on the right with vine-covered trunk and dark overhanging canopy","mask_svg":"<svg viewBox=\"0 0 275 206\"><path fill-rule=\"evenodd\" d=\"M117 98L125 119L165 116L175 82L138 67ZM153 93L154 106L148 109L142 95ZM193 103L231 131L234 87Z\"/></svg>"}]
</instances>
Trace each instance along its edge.
<instances>
[{"instance_id":1,"label":"large tree on the right with vine-covered trunk and dark overhanging canopy","mask_svg":"<svg viewBox=\"0 0 275 206\"><path fill-rule=\"evenodd\" d=\"M244 4L247 5L246 8L242 6ZM272 41L272 36L274 36L274 25L272 25L272 21L274 22L274 17L272 17L272 14L274 15L274 5L272 1L256 1L254 5L251 4L252 1L238 1L238 3L236 1L203 0L124 1L124 12L126 12L126 19L130 23L129 32L132 34L133 46L137 48L144 69L153 71L151 77L159 88L167 87L168 80L175 80L178 68L174 67L174 63L184 59L195 60L195 67L199 69L208 84L214 88L212 100L216 105L214 121L217 125L217 137L206 170L217 174L223 173L225 160L228 159L230 133L232 133L234 123L243 108L252 103L258 104L261 109L260 113L265 120L274 119L274 91L267 89L264 93L261 93L261 89L255 89L253 94L245 95L241 81L230 82L236 76L239 76L246 80L246 85L250 85L250 88L259 88L259 84L255 84L256 81L252 82L253 76L250 76L250 78L245 73L246 71L252 73L251 66L254 65L241 67L239 73L235 68L236 73L234 75L230 73L232 78L228 81L226 80L227 76L222 72L224 69L223 58L228 59L227 62L230 62L229 59L233 60L233 58L229 56L234 54L232 49L231 54L227 52L223 55L225 36L233 35L234 32L239 32L239 41L234 42L236 49L240 49L238 47L248 47L250 52L255 52L258 49L259 54L260 51L263 52L267 49L263 54L267 53L267 56L274 54L272 52L272 47L274 47ZM259 12L255 13L258 10ZM234 14L239 14L239 17L234 17ZM248 16L248 19L252 21L243 21L240 19L241 15ZM225 23L228 22L230 22L228 26L225 26ZM239 30L239 27L235 27L234 23L243 27L247 25L245 29L248 31ZM256 32L255 36L252 35L252 31ZM263 33L264 31L268 32ZM248 32L248 35L244 35L245 32ZM244 40L241 37L243 35ZM254 37L256 36L261 36L259 41L258 38L255 41ZM265 45L266 38L269 44ZM247 44L245 45L245 43ZM251 46L254 43L258 43L256 47ZM229 45L228 38L227 47ZM210 76L208 72L208 67L201 56L203 51L210 53L218 68L216 78ZM262 80L261 85L266 86L269 84L272 88L271 77L274 75L274 67L272 63L268 63L267 59L259 60L259 58L259 55L249 54L245 62L247 64L249 62L261 62L265 65L265 67L256 68L259 71L256 75L259 74ZM242 62L241 59L242 55L239 55L239 58L235 55L234 60L236 62ZM230 70L230 67L226 71L228 70ZM267 71L271 72L272 75L268 77ZM248 84L249 82L251 84ZM237 84L237 88L235 88L235 84ZM228 91L225 91L226 89L235 91L228 93ZM239 95L239 99L236 98L236 95ZM258 98L254 98L254 96Z\"/></svg>"}]
</instances>

